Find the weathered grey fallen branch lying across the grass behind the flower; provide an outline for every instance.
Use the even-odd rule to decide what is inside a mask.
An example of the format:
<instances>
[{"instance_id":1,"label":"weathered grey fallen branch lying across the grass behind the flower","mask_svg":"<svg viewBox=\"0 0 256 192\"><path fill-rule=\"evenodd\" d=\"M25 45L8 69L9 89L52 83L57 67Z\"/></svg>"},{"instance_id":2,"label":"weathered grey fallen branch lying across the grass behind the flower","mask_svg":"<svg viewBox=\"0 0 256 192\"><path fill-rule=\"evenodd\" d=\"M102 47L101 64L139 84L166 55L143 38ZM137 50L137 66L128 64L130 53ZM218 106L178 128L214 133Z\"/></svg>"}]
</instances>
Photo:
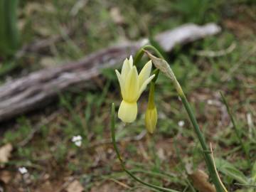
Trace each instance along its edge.
<instances>
[{"instance_id":1,"label":"weathered grey fallen branch lying across the grass behind the flower","mask_svg":"<svg viewBox=\"0 0 256 192\"><path fill-rule=\"evenodd\" d=\"M169 52L176 44L189 43L219 32L220 27L214 23L205 26L186 24L174 30L159 33L155 40L166 52ZM120 64L127 55L134 55L146 43L148 43L147 39L143 39L105 48L81 60L39 70L23 78L6 82L0 87L0 121L46 105L60 92L69 87L81 85L99 75L101 68Z\"/></svg>"}]
</instances>

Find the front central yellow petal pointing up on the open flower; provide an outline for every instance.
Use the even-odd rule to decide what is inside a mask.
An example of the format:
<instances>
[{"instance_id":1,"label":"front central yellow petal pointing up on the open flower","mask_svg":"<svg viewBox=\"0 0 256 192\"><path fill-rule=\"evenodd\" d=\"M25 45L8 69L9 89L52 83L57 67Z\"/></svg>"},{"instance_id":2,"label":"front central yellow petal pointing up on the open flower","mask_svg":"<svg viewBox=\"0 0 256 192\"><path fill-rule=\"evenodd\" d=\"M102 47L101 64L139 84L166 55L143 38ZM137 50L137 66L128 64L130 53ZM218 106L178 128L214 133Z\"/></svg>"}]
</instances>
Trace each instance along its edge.
<instances>
[{"instance_id":1,"label":"front central yellow petal pointing up on the open flower","mask_svg":"<svg viewBox=\"0 0 256 192\"><path fill-rule=\"evenodd\" d=\"M126 80L124 81L124 92L124 100L127 102L137 102L139 94L139 80L137 68L135 66L130 70Z\"/></svg>"}]
</instances>

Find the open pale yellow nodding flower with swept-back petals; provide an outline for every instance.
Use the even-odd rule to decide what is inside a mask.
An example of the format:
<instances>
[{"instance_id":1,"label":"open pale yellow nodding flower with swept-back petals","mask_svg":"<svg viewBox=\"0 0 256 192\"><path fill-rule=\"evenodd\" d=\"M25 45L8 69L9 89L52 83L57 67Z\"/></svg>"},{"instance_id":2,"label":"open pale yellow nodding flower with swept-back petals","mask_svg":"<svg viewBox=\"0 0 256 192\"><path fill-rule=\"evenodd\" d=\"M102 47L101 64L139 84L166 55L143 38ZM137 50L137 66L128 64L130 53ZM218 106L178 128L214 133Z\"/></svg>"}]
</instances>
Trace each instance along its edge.
<instances>
[{"instance_id":1,"label":"open pale yellow nodding flower with swept-back petals","mask_svg":"<svg viewBox=\"0 0 256 192\"><path fill-rule=\"evenodd\" d=\"M146 89L146 85L154 78L154 75L150 76L151 68L152 63L151 60L149 60L138 75L137 68L133 65L131 55L129 60L124 60L121 74L118 70L115 70L123 99L118 110L118 117L123 122L134 122L136 119L138 111L137 100Z\"/></svg>"}]
</instances>

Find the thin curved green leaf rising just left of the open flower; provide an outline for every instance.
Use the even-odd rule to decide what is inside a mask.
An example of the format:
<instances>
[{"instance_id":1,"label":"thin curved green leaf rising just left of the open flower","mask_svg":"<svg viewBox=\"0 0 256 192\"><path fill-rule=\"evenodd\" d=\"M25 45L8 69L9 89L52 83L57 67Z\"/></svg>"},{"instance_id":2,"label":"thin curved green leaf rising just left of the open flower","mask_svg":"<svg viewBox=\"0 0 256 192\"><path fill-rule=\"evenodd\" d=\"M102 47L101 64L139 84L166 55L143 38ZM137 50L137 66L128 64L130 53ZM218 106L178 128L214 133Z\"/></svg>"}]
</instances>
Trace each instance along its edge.
<instances>
[{"instance_id":1,"label":"thin curved green leaf rising just left of the open flower","mask_svg":"<svg viewBox=\"0 0 256 192\"><path fill-rule=\"evenodd\" d=\"M142 181L140 178L137 178L137 176L134 176L134 174L132 174L132 172L128 171L126 168L125 168L125 165L124 165L124 161L122 160L122 156L120 155L119 153L119 149L117 147L117 142L116 142L116 139L115 139L115 110L114 110L114 103L112 103L112 109L111 109L111 135L112 135L112 142L113 142L113 145L114 145L114 151L116 151L117 153L117 158L119 159L120 161L120 164L122 166L122 169L129 175L131 176L132 178L134 178L135 181L139 182L139 183L142 183L143 185L145 186L149 186L151 188L154 188L156 190L159 190L159 191L166 191L166 192L178 192L178 191L175 191L175 190L172 190L172 189L169 189L169 188L164 188L164 187L161 187L161 186L156 186L156 185L153 185L151 183L146 183L144 181Z\"/></svg>"}]
</instances>

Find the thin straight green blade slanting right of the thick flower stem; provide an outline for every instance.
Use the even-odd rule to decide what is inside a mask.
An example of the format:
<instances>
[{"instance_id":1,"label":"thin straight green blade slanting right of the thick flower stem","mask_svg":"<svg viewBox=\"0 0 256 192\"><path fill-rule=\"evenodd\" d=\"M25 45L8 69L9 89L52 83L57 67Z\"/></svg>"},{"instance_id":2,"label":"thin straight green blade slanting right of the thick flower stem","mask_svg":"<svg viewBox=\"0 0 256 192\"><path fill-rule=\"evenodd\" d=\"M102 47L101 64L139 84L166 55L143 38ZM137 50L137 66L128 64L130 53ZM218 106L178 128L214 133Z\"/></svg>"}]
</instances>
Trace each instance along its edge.
<instances>
[{"instance_id":1,"label":"thin straight green blade slanting right of the thick flower stem","mask_svg":"<svg viewBox=\"0 0 256 192\"><path fill-rule=\"evenodd\" d=\"M233 117L233 114L232 114L232 112L230 111L230 108L229 108L229 106L228 106L228 102L227 102L227 100L225 99L225 97L224 97L224 95L223 95L222 92L220 92L220 95L221 95L221 97L222 97L222 100L223 100L223 103L224 103L225 107L227 108L229 117L230 117L231 122L232 122L232 124L233 124L233 127L234 127L234 129L235 129L235 134L237 135L238 141L240 142L240 145L242 146L242 150L244 151L245 156L246 156L246 158L247 158L247 164L248 164L249 167L251 167L249 151L246 150L245 144L242 142L242 138L240 137L239 129L238 129L236 123L235 123L235 119L234 119L234 117Z\"/></svg>"}]
</instances>

